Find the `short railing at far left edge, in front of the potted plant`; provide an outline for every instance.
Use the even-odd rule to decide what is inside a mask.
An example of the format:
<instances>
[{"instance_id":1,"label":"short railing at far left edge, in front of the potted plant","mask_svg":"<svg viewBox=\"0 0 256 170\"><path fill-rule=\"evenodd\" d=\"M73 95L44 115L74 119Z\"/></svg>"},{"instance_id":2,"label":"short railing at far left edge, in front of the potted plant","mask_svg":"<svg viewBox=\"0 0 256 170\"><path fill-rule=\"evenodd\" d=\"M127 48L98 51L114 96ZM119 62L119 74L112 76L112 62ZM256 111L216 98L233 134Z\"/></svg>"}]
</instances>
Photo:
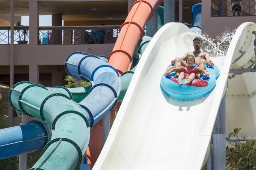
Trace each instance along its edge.
<instances>
[{"instance_id":1,"label":"short railing at far left edge, in front of the potted plant","mask_svg":"<svg viewBox=\"0 0 256 170\"><path fill-rule=\"evenodd\" d=\"M11 27L0 27L0 45L11 44ZM14 27L14 44L29 44L29 27Z\"/></svg>"}]
</instances>

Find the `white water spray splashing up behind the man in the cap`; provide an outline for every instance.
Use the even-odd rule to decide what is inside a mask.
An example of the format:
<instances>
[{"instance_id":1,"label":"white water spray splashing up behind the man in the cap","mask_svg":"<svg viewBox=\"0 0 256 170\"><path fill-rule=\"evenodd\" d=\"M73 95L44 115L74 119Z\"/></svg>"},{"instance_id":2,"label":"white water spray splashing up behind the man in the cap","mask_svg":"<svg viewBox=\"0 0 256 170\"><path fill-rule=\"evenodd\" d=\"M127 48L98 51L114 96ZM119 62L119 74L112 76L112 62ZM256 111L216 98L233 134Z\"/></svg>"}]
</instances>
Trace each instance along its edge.
<instances>
[{"instance_id":1,"label":"white water spray splashing up behind the man in the cap","mask_svg":"<svg viewBox=\"0 0 256 170\"><path fill-rule=\"evenodd\" d=\"M193 37L201 37L203 41L202 51L209 53L210 57L226 57L230 42L235 34L235 30L227 30L218 35L215 39L210 38L208 34L192 32Z\"/></svg>"}]
</instances>

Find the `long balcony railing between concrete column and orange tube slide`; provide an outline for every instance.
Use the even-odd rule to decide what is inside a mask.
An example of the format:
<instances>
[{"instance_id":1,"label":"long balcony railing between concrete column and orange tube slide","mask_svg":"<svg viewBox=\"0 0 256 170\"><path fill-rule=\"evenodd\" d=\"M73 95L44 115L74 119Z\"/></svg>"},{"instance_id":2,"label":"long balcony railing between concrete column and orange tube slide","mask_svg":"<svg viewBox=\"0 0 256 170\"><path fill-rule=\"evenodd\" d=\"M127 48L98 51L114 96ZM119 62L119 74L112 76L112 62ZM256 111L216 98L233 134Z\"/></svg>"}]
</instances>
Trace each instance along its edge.
<instances>
[{"instance_id":1,"label":"long balcony railing between concrete column and orange tube slide","mask_svg":"<svg viewBox=\"0 0 256 170\"><path fill-rule=\"evenodd\" d=\"M111 44L119 35L120 26L38 27L38 44Z\"/></svg>"}]
</instances>

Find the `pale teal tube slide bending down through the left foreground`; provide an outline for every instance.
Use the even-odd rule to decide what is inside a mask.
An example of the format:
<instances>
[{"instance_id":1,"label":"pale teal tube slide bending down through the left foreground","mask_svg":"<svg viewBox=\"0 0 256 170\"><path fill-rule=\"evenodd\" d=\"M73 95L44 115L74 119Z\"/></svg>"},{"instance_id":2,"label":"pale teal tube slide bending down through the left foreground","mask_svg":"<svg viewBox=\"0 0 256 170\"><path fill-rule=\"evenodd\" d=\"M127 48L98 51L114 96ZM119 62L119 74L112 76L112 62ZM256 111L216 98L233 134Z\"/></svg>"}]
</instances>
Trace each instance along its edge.
<instances>
[{"instance_id":1,"label":"pale teal tube slide bending down through the left foreground","mask_svg":"<svg viewBox=\"0 0 256 170\"><path fill-rule=\"evenodd\" d=\"M42 119L52 128L52 140L31 170L79 168L90 139L90 127L84 111L70 96L39 84L19 82L9 92L9 103L15 110Z\"/></svg>"}]
</instances>

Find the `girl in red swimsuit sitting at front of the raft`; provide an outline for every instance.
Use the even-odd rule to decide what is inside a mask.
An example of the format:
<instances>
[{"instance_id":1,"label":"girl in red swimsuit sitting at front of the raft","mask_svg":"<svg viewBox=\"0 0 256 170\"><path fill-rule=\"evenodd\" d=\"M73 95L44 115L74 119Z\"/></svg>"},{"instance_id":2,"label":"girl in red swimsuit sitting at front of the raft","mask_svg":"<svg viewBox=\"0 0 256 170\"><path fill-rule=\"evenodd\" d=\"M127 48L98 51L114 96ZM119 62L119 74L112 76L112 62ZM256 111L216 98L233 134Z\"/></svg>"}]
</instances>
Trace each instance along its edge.
<instances>
[{"instance_id":1,"label":"girl in red swimsuit sitting at front of the raft","mask_svg":"<svg viewBox=\"0 0 256 170\"><path fill-rule=\"evenodd\" d=\"M195 64L195 57L192 55L189 55L186 58L186 63L188 65L188 67L177 67L177 68L173 68L170 71L167 71L166 74L170 74L171 72L174 71L181 71L180 75L178 77L178 82L181 85L183 79L187 79L187 83L191 82L193 79L195 79L195 74L197 74L198 71L204 73L207 77L209 77L209 74L201 67L198 67L198 65L196 67L193 68L193 64Z\"/></svg>"}]
</instances>

